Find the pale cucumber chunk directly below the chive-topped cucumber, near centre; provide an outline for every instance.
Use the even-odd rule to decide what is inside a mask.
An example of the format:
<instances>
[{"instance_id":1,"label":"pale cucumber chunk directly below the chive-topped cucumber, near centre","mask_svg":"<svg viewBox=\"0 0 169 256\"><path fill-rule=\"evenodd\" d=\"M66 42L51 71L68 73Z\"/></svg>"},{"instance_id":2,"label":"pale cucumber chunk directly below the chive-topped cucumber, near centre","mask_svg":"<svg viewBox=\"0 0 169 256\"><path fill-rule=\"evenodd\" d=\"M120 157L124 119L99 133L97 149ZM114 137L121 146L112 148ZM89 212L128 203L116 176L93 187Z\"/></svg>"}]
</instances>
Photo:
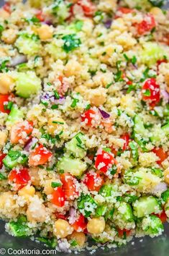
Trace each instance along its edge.
<instances>
[{"instance_id":1,"label":"pale cucumber chunk directly below the chive-topped cucumber, near centre","mask_svg":"<svg viewBox=\"0 0 169 256\"><path fill-rule=\"evenodd\" d=\"M86 171L86 163L79 158L63 157L58 163L59 171L68 171L74 176L81 176Z\"/></svg>"}]
</instances>

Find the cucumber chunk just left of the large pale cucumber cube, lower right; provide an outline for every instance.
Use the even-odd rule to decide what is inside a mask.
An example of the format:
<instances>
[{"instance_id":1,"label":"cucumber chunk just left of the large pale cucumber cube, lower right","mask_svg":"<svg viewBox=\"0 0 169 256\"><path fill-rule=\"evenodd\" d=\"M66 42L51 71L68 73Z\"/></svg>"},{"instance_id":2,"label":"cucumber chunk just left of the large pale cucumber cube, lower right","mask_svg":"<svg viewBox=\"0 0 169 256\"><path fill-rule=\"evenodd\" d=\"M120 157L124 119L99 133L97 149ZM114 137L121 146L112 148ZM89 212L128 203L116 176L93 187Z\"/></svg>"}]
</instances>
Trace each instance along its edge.
<instances>
[{"instance_id":1,"label":"cucumber chunk just left of the large pale cucumber cube, lower right","mask_svg":"<svg viewBox=\"0 0 169 256\"><path fill-rule=\"evenodd\" d=\"M123 221L134 221L132 207L127 202L121 202L118 209L115 211L115 214L117 214L119 219L122 219Z\"/></svg>"}]
</instances>

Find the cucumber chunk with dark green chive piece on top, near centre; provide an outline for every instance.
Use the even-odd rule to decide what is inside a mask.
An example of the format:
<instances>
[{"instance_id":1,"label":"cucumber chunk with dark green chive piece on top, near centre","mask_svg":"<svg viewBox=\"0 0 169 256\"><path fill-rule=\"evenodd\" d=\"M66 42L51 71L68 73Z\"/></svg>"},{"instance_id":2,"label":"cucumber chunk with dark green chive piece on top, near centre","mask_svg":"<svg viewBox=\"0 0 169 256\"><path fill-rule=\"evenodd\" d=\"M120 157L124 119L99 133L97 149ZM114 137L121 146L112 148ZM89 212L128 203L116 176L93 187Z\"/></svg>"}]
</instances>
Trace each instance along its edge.
<instances>
[{"instance_id":1,"label":"cucumber chunk with dark green chive piece on top, near centre","mask_svg":"<svg viewBox=\"0 0 169 256\"><path fill-rule=\"evenodd\" d=\"M85 139L81 132L66 143L65 148L68 153L73 154L77 158L84 158L86 155Z\"/></svg>"}]
</instances>

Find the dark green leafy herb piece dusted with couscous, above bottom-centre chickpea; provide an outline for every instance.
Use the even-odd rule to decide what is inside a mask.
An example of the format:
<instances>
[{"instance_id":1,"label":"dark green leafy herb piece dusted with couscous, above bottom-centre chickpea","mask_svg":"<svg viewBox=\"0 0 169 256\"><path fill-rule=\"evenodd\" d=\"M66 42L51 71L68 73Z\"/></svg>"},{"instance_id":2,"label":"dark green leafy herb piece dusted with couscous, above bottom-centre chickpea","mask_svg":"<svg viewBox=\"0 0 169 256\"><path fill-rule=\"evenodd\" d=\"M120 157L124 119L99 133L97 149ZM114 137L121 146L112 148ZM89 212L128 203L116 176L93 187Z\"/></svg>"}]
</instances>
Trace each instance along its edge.
<instances>
[{"instance_id":1,"label":"dark green leafy herb piece dusted with couscous, above bottom-centre chickpea","mask_svg":"<svg viewBox=\"0 0 169 256\"><path fill-rule=\"evenodd\" d=\"M95 213L97 208L97 203L93 200L91 195L82 194L81 197L78 198L78 210L85 216L88 216Z\"/></svg>"}]
</instances>

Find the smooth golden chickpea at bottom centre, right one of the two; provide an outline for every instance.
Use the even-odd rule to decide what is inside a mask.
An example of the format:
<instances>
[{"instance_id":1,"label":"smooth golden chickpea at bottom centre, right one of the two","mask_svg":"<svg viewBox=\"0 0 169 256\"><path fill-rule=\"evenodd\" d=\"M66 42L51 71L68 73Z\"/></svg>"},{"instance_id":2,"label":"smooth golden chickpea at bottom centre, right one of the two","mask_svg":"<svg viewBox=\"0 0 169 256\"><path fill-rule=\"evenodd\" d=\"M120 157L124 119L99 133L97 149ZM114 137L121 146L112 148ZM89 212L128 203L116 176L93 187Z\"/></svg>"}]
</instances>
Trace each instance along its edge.
<instances>
[{"instance_id":1,"label":"smooth golden chickpea at bottom centre, right one of the two","mask_svg":"<svg viewBox=\"0 0 169 256\"><path fill-rule=\"evenodd\" d=\"M91 218L87 224L88 232L91 234L101 234L105 229L104 217Z\"/></svg>"}]
</instances>

